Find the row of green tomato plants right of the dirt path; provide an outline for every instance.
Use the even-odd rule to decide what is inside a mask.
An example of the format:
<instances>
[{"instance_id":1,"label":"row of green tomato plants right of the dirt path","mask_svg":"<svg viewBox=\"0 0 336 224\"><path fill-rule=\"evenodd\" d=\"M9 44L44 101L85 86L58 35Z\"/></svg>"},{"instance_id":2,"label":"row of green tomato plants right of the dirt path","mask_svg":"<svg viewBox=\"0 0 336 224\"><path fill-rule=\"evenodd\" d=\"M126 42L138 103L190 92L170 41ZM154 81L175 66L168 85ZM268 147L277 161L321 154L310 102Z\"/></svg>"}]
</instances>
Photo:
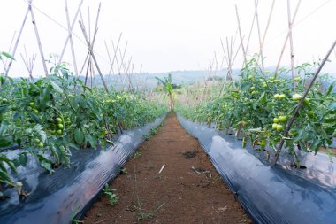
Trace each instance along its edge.
<instances>
[{"instance_id":1,"label":"row of green tomato plants right of the dirt path","mask_svg":"<svg viewBox=\"0 0 336 224\"><path fill-rule=\"evenodd\" d=\"M218 129L234 128L243 135L243 143L249 139L258 150L268 145L276 151L278 143L285 139L286 148L295 159L295 146L314 153L324 146L332 156L329 146L336 136L336 94L333 91L336 82L321 90L322 83L327 81L325 75L320 76L309 92L289 136L284 136L286 124L314 74L311 73L313 66L306 63L297 67L301 75L294 80L295 95L291 79L278 74L267 76L253 58L241 69L241 79L225 86L220 97L211 97L193 108L178 104L177 111L189 120L214 123Z\"/></svg>"}]
</instances>

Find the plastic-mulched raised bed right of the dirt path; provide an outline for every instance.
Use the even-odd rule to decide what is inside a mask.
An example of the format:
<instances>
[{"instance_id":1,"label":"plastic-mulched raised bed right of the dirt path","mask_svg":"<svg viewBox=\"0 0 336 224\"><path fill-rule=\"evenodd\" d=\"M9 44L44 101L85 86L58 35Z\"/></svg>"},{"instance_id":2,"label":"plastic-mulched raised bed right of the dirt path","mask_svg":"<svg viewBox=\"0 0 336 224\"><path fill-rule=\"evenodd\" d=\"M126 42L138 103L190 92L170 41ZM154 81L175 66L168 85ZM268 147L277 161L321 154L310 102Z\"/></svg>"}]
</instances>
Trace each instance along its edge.
<instances>
[{"instance_id":1,"label":"plastic-mulched raised bed right of the dirt path","mask_svg":"<svg viewBox=\"0 0 336 224\"><path fill-rule=\"evenodd\" d=\"M257 158L255 150L214 128L179 122L194 135L229 188L256 223L335 223L336 166L327 155L306 155L305 169L287 166L286 151L279 165Z\"/></svg>"}]
</instances>

